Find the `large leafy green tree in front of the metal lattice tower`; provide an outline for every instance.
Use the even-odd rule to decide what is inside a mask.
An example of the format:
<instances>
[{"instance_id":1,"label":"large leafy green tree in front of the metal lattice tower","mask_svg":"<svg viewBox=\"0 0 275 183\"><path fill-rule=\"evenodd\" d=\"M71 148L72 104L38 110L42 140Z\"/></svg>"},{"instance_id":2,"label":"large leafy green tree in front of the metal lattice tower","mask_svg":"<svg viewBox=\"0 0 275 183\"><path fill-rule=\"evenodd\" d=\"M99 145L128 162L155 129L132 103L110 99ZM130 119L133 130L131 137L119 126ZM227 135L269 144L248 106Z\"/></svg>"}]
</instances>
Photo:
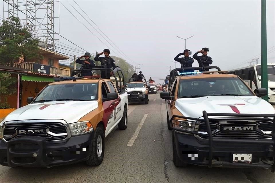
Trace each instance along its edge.
<instances>
[{"instance_id":1,"label":"large leafy green tree in front of the metal lattice tower","mask_svg":"<svg viewBox=\"0 0 275 183\"><path fill-rule=\"evenodd\" d=\"M13 66L19 58L40 62L39 39L32 37L30 27L22 26L18 17L3 20L0 26L0 64Z\"/></svg>"}]
</instances>

